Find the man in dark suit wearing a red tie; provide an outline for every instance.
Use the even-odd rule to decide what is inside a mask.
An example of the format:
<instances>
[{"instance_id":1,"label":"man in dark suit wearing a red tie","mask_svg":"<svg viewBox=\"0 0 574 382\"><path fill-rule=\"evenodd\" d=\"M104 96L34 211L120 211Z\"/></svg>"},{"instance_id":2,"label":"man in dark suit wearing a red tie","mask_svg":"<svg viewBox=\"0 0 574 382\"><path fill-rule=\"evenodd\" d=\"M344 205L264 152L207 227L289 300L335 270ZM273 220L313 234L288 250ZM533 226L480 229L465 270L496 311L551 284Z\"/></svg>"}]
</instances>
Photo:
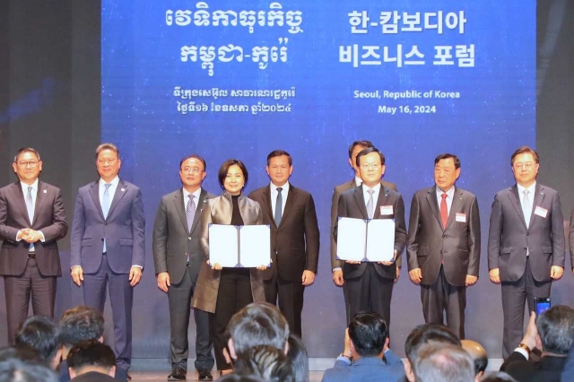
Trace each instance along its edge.
<instances>
[{"instance_id":1,"label":"man in dark suit wearing a red tie","mask_svg":"<svg viewBox=\"0 0 574 382\"><path fill-rule=\"evenodd\" d=\"M447 325L465 338L466 287L478 280L481 222L476 196L455 186L457 155L434 160L435 186L413 195L407 259L409 277L421 285L427 324Z\"/></svg>"}]
</instances>

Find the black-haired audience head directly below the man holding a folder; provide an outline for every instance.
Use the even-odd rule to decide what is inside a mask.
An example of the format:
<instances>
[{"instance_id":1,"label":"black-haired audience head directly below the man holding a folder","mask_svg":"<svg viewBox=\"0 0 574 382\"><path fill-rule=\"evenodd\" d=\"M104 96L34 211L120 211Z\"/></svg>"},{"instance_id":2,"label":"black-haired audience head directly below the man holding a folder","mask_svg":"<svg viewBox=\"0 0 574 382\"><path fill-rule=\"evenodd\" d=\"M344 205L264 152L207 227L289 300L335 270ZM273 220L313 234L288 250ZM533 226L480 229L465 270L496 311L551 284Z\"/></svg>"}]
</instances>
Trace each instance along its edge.
<instances>
[{"instance_id":1,"label":"black-haired audience head directly below the man holding a folder","mask_svg":"<svg viewBox=\"0 0 574 382\"><path fill-rule=\"evenodd\" d=\"M357 313L349 324L353 359L381 356L388 345L387 334L387 323L378 313Z\"/></svg>"}]
</instances>

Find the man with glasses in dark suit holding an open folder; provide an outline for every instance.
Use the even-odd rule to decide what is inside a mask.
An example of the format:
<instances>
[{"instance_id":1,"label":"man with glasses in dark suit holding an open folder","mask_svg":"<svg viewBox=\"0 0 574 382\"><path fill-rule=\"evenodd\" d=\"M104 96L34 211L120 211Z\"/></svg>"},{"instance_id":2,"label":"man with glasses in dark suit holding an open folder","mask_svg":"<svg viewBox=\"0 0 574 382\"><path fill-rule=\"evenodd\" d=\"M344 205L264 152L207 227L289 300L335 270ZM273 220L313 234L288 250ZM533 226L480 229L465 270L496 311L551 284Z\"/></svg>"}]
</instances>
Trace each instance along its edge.
<instances>
[{"instance_id":1,"label":"man with glasses in dark suit holding an open folder","mask_svg":"<svg viewBox=\"0 0 574 382\"><path fill-rule=\"evenodd\" d=\"M396 259L406 243L403 196L383 187L380 178L385 173L385 156L370 147L357 155L362 185L345 191L339 198L337 216L355 219L394 219L395 257L390 262L360 263L346 261L343 266L344 293L349 299L349 314L373 311L390 324L393 284L396 279ZM338 224L335 224L335 240ZM357 238L361 240L363 238Z\"/></svg>"}]
</instances>

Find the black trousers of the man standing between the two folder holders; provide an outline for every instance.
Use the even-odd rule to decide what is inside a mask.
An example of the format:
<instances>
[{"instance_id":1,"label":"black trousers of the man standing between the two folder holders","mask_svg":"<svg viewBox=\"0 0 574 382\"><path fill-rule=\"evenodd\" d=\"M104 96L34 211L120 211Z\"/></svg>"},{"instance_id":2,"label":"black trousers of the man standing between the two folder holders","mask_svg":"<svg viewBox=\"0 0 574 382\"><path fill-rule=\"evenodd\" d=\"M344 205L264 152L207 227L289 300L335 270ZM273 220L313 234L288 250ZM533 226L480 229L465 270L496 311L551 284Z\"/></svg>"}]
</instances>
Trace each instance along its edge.
<instances>
[{"instance_id":1,"label":"black trousers of the man standing between the two folder holders","mask_svg":"<svg viewBox=\"0 0 574 382\"><path fill-rule=\"evenodd\" d=\"M299 282L287 282L280 276L277 268L274 268L271 280L266 280L265 301L276 305L279 302L279 310L289 323L291 333L301 337L301 312L303 311L303 292L305 286Z\"/></svg>"}]
</instances>

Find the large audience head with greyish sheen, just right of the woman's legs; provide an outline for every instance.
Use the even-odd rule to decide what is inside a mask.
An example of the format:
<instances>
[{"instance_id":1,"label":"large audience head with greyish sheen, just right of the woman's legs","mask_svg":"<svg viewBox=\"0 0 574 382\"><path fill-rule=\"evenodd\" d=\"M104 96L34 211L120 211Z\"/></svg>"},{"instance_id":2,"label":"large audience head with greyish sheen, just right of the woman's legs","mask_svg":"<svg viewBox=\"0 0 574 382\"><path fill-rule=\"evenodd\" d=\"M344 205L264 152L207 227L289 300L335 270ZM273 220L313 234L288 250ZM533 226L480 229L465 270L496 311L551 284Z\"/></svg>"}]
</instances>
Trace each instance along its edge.
<instances>
[{"instance_id":1,"label":"large audience head with greyish sheen, just right of the woman's legs","mask_svg":"<svg viewBox=\"0 0 574 382\"><path fill-rule=\"evenodd\" d=\"M227 326L230 334L228 347L232 359L257 345L270 345L287 352L289 325L274 305L251 303L242 308L230 319Z\"/></svg>"}]
</instances>

